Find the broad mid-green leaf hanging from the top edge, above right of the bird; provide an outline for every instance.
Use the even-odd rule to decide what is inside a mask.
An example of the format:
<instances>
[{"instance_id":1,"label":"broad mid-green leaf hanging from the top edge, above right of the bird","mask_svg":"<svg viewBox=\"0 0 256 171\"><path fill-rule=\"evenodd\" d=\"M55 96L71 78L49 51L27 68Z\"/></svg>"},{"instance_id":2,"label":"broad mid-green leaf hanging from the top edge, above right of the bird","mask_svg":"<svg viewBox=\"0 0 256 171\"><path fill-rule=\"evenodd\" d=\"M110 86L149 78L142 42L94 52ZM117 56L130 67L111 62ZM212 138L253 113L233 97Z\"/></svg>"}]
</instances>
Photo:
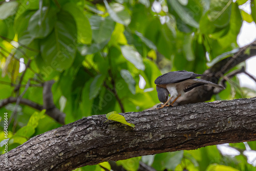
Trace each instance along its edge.
<instances>
[{"instance_id":1,"label":"broad mid-green leaf hanging from the top edge, above right of the bird","mask_svg":"<svg viewBox=\"0 0 256 171\"><path fill-rule=\"evenodd\" d=\"M212 0L208 17L216 27L223 28L229 24L232 0Z\"/></svg>"}]
</instances>

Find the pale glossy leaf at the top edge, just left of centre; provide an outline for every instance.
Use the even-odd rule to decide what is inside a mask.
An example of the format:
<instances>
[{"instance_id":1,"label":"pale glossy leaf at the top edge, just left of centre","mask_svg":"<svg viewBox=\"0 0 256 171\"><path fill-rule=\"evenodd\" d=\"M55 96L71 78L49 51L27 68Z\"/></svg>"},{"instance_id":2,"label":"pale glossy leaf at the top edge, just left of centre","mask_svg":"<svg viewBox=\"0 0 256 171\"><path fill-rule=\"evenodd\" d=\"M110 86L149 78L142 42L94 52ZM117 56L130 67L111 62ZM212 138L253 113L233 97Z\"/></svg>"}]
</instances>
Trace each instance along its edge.
<instances>
[{"instance_id":1,"label":"pale glossy leaf at the top edge, just left of centre","mask_svg":"<svg viewBox=\"0 0 256 171\"><path fill-rule=\"evenodd\" d=\"M129 12L122 6L121 4L118 3L111 3L111 5L106 2L106 0L103 0L106 9L108 10L111 18L122 25L129 25L131 23L131 16Z\"/></svg>"}]
</instances>

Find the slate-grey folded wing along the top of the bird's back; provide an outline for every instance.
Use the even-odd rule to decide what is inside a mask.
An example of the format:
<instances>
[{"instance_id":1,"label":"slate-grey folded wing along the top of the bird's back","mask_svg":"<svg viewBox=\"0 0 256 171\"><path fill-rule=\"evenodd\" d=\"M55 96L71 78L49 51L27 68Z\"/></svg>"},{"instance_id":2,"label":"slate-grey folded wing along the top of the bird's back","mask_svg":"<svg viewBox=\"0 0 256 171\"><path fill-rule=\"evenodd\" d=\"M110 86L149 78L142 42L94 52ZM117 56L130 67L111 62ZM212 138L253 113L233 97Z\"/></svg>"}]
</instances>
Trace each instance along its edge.
<instances>
[{"instance_id":1,"label":"slate-grey folded wing along the top of the bird's back","mask_svg":"<svg viewBox=\"0 0 256 171\"><path fill-rule=\"evenodd\" d=\"M155 84L169 84L177 83L187 79L196 78L202 76L202 74L195 74L194 72L188 71L174 71L163 74L155 80Z\"/></svg>"}]
</instances>

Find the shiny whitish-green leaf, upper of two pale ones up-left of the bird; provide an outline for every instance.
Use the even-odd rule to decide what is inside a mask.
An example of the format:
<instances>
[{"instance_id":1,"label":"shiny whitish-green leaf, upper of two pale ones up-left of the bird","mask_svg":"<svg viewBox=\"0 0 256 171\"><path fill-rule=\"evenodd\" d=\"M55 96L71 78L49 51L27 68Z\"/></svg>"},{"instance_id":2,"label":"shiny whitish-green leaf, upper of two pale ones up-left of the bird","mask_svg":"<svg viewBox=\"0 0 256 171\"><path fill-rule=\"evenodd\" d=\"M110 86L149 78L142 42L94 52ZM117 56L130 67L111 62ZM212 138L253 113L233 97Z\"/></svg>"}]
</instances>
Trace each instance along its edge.
<instances>
[{"instance_id":1,"label":"shiny whitish-green leaf, upper of two pale ones up-left of the bird","mask_svg":"<svg viewBox=\"0 0 256 171\"><path fill-rule=\"evenodd\" d=\"M133 63L133 65L137 69L142 70L142 71L145 70L145 66L144 66L142 57L135 50L135 48L133 46L130 46L130 45L121 46L121 51L122 51L122 54L125 57L125 59L127 59L128 61Z\"/></svg>"}]
</instances>

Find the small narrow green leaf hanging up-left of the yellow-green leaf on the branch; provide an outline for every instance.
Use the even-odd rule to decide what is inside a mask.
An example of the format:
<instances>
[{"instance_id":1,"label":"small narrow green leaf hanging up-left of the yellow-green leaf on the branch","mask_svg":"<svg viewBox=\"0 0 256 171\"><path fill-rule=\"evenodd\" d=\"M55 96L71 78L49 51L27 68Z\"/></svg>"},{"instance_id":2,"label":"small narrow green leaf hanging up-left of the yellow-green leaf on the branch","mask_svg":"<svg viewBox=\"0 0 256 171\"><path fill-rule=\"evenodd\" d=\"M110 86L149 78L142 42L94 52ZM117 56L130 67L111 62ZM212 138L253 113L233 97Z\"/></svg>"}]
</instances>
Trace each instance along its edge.
<instances>
[{"instance_id":1,"label":"small narrow green leaf hanging up-left of the yellow-green leaf on the branch","mask_svg":"<svg viewBox=\"0 0 256 171\"><path fill-rule=\"evenodd\" d=\"M102 87L104 80L105 80L105 75L102 75L102 74L97 75L93 79L93 82L91 83L91 86L90 86L90 94L89 94L90 100L95 98L99 94L99 91Z\"/></svg>"}]
</instances>

